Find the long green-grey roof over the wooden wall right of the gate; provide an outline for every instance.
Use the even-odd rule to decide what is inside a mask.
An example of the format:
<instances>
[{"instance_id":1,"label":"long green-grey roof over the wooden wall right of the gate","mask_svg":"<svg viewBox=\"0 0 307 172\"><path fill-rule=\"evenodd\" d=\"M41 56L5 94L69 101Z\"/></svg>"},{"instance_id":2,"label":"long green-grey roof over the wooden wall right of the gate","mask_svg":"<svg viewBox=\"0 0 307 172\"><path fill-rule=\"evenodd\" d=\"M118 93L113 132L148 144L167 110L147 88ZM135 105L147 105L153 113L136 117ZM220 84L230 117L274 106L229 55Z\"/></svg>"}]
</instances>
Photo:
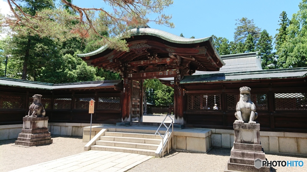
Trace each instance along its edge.
<instances>
[{"instance_id":1,"label":"long green-grey roof over the wooden wall right of the gate","mask_svg":"<svg viewBox=\"0 0 307 172\"><path fill-rule=\"evenodd\" d=\"M209 83L242 80L269 80L307 77L307 68L271 69L248 72L215 73L184 76L180 84Z\"/></svg>"}]
</instances>

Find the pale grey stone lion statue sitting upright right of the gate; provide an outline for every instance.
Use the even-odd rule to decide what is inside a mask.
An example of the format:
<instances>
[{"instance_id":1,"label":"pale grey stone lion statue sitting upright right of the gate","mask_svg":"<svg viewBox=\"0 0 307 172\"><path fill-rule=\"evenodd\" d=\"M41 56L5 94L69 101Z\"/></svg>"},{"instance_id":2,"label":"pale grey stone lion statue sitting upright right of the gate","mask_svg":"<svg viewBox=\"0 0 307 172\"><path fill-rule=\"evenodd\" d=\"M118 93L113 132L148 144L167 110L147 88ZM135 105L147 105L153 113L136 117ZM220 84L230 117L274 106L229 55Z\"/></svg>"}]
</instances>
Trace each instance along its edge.
<instances>
[{"instance_id":1,"label":"pale grey stone lion statue sitting upright right of the gate","mask_svg":"<svg viewBox=\"0 0 307 172\"><path fill-rule=\"evenodd\" d=\"M238 119L235 122L256 124L254 120L258 117L258 114L256 113L255 104L251 101L251 88L240 88L240 100L235 109L237 110L235 117Z\"/></svg>"}]
</instances>

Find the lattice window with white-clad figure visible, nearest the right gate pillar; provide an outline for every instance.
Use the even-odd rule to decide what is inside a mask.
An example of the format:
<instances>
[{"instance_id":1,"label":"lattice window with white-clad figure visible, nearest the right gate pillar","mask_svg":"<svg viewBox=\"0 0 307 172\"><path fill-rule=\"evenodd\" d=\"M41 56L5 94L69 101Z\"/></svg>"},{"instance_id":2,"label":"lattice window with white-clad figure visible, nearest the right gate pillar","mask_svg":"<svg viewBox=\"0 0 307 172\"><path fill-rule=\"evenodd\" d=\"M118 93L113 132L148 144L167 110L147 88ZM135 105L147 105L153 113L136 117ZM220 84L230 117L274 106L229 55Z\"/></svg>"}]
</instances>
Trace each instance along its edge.
<instances>
[{"instance_id":1,"label":"lattice window with white-clad figure visible, nearest the right gate pillar","mask_svg":"<svg viewBox=\"0 0 307 172\"><path fill-rule=\"evenodd\" d=\"M188 109L220 110L220 95L188 95Z\"/></svg>"}]
</instances>

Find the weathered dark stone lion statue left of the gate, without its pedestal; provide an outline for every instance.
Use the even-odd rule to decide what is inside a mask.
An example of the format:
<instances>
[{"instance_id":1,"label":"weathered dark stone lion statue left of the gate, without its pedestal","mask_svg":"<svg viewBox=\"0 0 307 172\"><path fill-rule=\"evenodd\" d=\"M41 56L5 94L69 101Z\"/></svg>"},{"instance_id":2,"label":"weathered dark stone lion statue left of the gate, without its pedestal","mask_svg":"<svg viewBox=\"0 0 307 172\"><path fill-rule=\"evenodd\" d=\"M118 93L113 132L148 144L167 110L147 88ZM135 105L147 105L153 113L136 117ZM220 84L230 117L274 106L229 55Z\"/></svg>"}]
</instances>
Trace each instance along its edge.
<instances>
[{"instance_id":1,"label":"weathered dark stone lion statue left of the gate, without its pedestal","mask_svg":"<svg viewBox=\"0 0 307 172\"><path fill-rule=\"evenodd\" d=\"M46 111L41 104L41 96L40 94L33 95L33 103L29 107L29 113L25 117L44 117Z\"/></svg>"}]
</instances>

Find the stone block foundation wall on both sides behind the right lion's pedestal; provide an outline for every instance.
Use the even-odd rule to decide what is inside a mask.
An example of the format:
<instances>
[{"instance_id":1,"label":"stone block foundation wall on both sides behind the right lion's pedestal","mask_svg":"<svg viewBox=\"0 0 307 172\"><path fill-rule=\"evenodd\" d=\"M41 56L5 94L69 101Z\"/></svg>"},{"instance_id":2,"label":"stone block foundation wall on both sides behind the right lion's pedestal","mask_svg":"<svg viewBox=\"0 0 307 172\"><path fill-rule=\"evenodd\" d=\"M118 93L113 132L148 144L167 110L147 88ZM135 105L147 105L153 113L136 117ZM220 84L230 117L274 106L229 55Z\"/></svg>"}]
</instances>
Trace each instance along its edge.
<instances>
[{"instance_id":1,"label":"stone block foundation wall on both sides behind the right lion's pedestal","mask_svg":"<svg viewBox=\"0 0 307 172\"><path fill-rule=\"evenodd\" d=\"M210 129L212 147L232 148L234 130ZM307 154L307 133L260 131L264 151Z\"/></svg>"}]
</instances>

